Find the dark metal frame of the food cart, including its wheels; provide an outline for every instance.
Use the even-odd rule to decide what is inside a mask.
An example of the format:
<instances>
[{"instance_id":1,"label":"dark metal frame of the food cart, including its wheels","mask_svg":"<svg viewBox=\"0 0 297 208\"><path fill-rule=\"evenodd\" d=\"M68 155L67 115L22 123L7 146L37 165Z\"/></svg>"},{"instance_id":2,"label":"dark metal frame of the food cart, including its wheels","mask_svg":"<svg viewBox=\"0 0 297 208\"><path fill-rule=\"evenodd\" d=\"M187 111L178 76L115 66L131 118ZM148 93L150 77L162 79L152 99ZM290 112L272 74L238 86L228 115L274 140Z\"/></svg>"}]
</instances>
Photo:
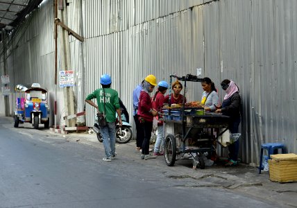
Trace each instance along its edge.
<instances>
[{"instance_id":1,"label":"dark metal frame of the food cart, including its wheels","mask_svg":"<svg viewBox=\"0 0 297 208\"><path fill-rule=\"evenodd\" d=\"M207 114L196 114L198 107L186 107L185 106L185 94L187 92L187 82L202 82L202 78L197 78L197 76L192 76L187 74L187 76L178 77L175 75L170 76L170 85L172 83L172 78L176 78L184 82L183 89L183 105L181 109L171 108L171 101L169 96L169 110L164 111L164 122L165 122L165 143L164 143L164 158L167 166L173 166L178 159L177 155L183 155L189 153L192 155L193 168L198 166L199 168L205 168L205 162L203 159L203 153L212 153L211 139L214 137L214 129L225 128L221 131L214 140L217 140L219 136L223 135L223 132L228 130L229 117L222 114L207 113ZM169 90L169 95L171 95L171 89ZM208 128L211 130L210 137L208 137L209 146L198 147L194 149L186 149L186 141L189 135L195 135L195 130ZM180 132L182 135L180 135ZM181 137L182 146L178 149L176 148L176 139ZM205 141L205 139L204 139ZM195 153L195 154L194 154Z\"/></svg>"}]
</instances>

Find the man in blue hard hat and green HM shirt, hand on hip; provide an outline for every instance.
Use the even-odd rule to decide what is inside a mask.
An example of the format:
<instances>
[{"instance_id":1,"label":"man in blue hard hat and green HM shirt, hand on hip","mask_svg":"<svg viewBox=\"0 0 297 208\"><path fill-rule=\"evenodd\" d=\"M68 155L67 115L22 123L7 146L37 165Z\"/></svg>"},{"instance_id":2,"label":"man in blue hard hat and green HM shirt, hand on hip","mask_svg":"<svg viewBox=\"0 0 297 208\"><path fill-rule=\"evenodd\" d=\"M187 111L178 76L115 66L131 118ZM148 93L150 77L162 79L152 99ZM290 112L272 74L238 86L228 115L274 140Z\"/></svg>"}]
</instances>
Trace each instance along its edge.
<instances>
[{"instance_id":1,"label":"man in blue hard hat and green HM shirt, hand on hip","mask_svg":"<svg viewBox=\"0 0 297 208\"><path fill-rule=\"evenodd\" d=\"M94 92L89 94L87 98L85 98L85 102L96 107L97 112L101 112L101 114L105 114L106 116L106 121L108 124L104 127L100 127L105 150L105 157L103 157L103 161L111 161L111 159L114 159L114 157L117 155L117 153L115 153L115 121L117 119L116 112L119 118L119 125L122 125L119 94L117 91L110 88L112 80L107 73L101 76L100 83L102 88L96 89ZM93 98L97 99L97 105L91 101Z\"/></svg>"}]
</instances>

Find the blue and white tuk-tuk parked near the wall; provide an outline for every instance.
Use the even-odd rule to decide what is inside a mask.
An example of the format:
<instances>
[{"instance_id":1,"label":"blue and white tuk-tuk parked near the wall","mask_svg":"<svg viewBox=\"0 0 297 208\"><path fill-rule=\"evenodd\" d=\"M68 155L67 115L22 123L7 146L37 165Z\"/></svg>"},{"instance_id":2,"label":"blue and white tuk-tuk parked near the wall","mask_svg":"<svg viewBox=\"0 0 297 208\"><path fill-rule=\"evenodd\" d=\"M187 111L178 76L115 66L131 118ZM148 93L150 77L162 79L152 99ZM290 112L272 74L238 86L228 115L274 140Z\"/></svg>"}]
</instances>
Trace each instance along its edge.
<instances>
[{"instance_id":1,"label":"blue and white tuk-tuk parked near the wall","mask_svg":"<svg viewBox=\"0 0 297 208\"><path fill-rule=\"evenodd\" d=\"M48 94L40 84L33 83L30 87L17 85L16 110L14 115L14 127L18 128L19 123L32 123L35 129L43 123L44 128L49 128L49 104Z\"/></svg>"}]
</instances>

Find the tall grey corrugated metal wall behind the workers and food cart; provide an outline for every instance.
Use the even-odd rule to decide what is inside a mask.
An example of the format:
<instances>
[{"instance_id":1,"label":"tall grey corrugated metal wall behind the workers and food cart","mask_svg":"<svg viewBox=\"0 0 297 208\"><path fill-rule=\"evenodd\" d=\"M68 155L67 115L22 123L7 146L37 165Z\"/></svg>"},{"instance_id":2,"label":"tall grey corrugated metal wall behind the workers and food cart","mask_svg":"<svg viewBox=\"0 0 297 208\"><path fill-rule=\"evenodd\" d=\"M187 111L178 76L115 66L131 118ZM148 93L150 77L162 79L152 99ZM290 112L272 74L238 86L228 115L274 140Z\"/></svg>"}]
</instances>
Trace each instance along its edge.
<instances>
[{"instance_id":1,"label":"tall grey corrugated metal wall behind the workers and food cart","mask_svg":"<svg viewBox=\"0 0 297 208\"><path fill-rule=\"evenodd\" d=\"M41 16L51 21L53 8L46 2L31 22L40 24ZM202 76L212 78L221 99L221 80L230 78L239 85L244 162L258 163L260 145L266 142L284 142L290 153L297 152L295 0L71 0L67 10L70 28L85 37L83 44L69 39L78 108L100 87L101 74L110 73L112 87L133 121L132 92L146 75L169 81L171 73L184 76L202 68ZM20 42L13 53L22 64L12 66L17 77L28 81L40 78L35 72L43 62L53 64L52 23L45 24L46 33L32 24L27 42ZM40 42L41 36L47 43ZM28 50L31 55L22 57ZM35 58L40 54L42 61ZM19 70L24 68L31 74ZM201 94L200 83L189 83L189 101L200 100ZM92 126L94 108L86 107L87 125Z\"/></svg>"}]
</instances>

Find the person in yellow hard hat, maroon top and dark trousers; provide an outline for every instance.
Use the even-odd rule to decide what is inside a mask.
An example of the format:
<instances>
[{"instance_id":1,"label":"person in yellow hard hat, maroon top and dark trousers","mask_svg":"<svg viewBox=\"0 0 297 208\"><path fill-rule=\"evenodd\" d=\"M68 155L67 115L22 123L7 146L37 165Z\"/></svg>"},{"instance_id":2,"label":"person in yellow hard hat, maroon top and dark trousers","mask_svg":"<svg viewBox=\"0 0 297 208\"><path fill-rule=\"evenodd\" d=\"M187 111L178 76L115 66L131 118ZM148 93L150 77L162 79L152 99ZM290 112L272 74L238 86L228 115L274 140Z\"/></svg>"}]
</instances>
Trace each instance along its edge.
<instances>
[{"instance_id":1,"label":"person in yellow hard hat, maroon top and dark trousers","mask_svg":"<svg viewBox=\"0 0 297 208\"><path fill-rule=\"evenodd\" d=\"M142 159L152 159L157 156L149 155L149 144L151 139L151 131L153 129L153 116L158 114L157 110L153 109L151 103L151 92L157 86L157 79L152 74L146 76L142 82L142 92L140 92L138 102L137 116L140 123L140 128L144 132L144 141L142 142Z\"/></svg>"}]
</instances>

